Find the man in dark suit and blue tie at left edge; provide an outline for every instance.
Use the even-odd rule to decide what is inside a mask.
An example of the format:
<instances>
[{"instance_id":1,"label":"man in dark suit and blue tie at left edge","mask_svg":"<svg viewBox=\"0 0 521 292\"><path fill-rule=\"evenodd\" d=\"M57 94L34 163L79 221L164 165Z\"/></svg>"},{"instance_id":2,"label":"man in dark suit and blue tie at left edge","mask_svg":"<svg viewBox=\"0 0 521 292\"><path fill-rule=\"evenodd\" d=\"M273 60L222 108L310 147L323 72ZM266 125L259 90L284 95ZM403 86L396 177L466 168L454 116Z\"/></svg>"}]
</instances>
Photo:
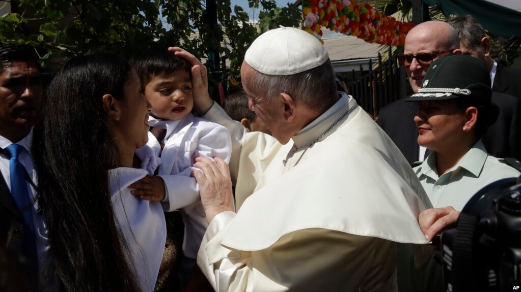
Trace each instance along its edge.
<instances>
[{"instance_id":1,"label":"man in dark suit and blue tie at left edge","mask_svg":"<svg viewBox=\"0 0 521 292\"><path fill-rule=\"evenodd\" d=\"M32 204L36 174L30 152L41 81L34 48L0 47L0 248L18 257L33 283L47 246L43 217ZM16 168L17 163L22 168ZM13 169L20 171L14 174Z\"/></svg>"}]
</instances>

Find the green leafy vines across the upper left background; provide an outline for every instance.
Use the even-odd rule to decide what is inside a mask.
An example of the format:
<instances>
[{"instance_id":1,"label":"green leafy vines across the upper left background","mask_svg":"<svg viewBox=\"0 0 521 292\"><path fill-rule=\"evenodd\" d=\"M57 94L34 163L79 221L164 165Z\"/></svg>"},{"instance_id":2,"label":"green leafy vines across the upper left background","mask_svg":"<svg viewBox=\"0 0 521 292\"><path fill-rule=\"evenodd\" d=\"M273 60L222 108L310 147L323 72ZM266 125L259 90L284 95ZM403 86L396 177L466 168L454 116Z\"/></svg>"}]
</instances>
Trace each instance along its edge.
<instances>
[{"instance_id":1,"label":"green leafy vines across the upper left background","mask_svg":"<svg viewBox=\"0 0 521 292\"><path fill-rule=\"evenodd\" d=\"M218 25L208 21L206 1L190 0L10 0L11 13L0 17L4 44L39 48L44 66L78 54L116 52L131 57L148 46L181 46L202 60L210 48L229 59L228 77L239 77L253 39L278 25L299 26L299 7L277 7L275 0L249 0L258 27L242 7L217 1ZM6 1L0 1L0 6ZM166 23L164 23L166 21ZM222 64L221 64L222 66Z\"/></svg>"}]
</instances>

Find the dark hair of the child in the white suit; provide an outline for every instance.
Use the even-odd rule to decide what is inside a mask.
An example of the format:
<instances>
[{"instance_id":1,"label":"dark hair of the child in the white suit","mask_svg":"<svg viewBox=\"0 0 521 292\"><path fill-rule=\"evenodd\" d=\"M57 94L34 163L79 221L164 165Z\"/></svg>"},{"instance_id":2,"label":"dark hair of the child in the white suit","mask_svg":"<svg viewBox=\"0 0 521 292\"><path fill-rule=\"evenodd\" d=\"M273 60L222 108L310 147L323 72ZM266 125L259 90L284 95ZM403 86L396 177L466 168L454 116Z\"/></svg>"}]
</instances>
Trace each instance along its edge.
<instances>
[{"instance_id":1,"label":"dark hair of the child in the white suit","mask_svg":"<svg viewBox=\"0 0 521 292\"><path fill-rule=\"evenodd\" d=\"M178 70L192 72L192 66L187 60L177 57L167 48L150 48L141 51L130 60L135 72L141 78L141 84L145 87L154 75L171 73Z\"/></svg>"}]
</instances>

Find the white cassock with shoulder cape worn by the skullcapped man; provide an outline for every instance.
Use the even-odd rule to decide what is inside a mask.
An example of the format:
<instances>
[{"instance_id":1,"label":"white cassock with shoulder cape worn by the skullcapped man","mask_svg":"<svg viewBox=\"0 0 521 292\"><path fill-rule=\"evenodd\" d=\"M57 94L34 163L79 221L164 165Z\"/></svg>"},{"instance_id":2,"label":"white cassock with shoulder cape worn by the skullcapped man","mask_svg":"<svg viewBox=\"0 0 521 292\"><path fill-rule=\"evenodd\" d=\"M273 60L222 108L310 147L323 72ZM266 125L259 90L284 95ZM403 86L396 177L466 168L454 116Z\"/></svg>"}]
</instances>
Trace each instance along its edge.
<instances>
[{"instance_id":1,"label":"white cassock with shoulder cape worn by the skullcapped man","mask_svg":"<svg viewBox=\"0 0 521 292\"><path fill-rule=\"evenodd\" d=\"M197 258L217 291L396 290L396 242L427 243L417 218L431 206L352 97L286 145L246 133L218 105L203 117L230 131L237 181L237 213L210 222Z\"/></svg>"}]
</instances>

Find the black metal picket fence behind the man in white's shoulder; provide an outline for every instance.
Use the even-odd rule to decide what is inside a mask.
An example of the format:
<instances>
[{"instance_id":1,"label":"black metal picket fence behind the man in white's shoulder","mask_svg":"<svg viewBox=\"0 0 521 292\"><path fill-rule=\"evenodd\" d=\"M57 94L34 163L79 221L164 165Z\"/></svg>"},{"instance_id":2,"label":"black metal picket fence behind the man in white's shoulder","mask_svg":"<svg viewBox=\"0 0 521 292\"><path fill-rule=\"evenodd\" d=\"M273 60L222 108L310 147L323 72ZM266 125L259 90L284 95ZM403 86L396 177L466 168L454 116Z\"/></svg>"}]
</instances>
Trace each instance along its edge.
<instances>
[{"instance_id":1,"label":"black metal picket fence behind the man in white's shoulder","mask_svg":"<svg viewBox=\"0 0 521 292\"><path fill-rule=\"evenodd\" d=\"M347 84L349 94L358 100L358 104L374 118L378 111L396 99L406 96L405 77L402 75L396 54L392 54L389 47L389 58L382 62L382 56L378 53L378 67L364 74L362 65L360 73L362 77L355 78L355 70L352 71L353 82ZM369 60L369 68L373 68L373 62Z\"/></svg>"}]
</instances>

